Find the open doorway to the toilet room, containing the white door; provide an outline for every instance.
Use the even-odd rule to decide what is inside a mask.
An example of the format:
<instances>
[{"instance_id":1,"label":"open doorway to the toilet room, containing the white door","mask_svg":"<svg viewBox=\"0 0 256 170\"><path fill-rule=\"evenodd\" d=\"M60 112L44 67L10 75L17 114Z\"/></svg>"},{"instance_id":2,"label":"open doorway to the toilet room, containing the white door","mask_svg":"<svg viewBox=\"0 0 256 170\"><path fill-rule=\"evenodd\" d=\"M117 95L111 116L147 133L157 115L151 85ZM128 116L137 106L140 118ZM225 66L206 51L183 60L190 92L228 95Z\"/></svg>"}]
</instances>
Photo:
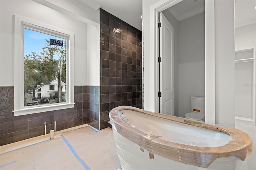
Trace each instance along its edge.
<instances>
[{"instance_id":1,"label":"open doorway to the toilet room, containing the white door","mask_svg":"<svg viewBox=\"0 0 256 170\"><path fill-rule=\"evenodd\" d=\"M204 0L161 11L159 23L158 112L185 117L190 96L205 96Z\"/></svg>"}]
</instances>

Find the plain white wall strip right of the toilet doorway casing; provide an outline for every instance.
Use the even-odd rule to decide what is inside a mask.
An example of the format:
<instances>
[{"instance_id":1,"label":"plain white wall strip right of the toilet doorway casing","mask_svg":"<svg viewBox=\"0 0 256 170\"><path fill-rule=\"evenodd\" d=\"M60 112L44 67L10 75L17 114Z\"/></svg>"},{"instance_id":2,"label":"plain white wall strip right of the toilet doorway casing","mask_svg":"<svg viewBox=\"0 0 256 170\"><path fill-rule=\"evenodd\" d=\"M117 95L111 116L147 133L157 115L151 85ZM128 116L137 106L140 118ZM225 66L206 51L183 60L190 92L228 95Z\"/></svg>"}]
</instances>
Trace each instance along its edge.
<instances>
[{"instance_id":1,"label":"plain white wall strip right of the toilet doorway casing","mask_svg":"<svg viewBox=\"0 0 256 170\"><path fill-rule=\"evenodd\" d=\"M234 31L234 0L215 0L215 122L231 127L235 127Z\"/></svg>"}]
</instances>

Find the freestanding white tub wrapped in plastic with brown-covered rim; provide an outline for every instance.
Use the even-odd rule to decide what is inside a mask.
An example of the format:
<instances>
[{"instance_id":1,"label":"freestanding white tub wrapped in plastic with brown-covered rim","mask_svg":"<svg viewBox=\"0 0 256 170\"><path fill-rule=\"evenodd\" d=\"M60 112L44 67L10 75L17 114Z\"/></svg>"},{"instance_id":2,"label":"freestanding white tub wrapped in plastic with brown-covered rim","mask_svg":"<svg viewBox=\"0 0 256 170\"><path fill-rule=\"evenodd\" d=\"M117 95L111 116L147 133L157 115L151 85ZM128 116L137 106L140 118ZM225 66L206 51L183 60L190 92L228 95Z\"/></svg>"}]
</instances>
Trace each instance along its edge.
<instances>
[{"instance_id":1,"label":"freestanding white tub wrapped in plastic with brown-covered rim","mask_svg":"<svg viewBox=\"0 0 256 170\"><path fill-rule=\"evenodd\" d=\"M239 170L250 135L220 125L119 106L109 113L122 170Z\"/></svg>"}]
</instances>

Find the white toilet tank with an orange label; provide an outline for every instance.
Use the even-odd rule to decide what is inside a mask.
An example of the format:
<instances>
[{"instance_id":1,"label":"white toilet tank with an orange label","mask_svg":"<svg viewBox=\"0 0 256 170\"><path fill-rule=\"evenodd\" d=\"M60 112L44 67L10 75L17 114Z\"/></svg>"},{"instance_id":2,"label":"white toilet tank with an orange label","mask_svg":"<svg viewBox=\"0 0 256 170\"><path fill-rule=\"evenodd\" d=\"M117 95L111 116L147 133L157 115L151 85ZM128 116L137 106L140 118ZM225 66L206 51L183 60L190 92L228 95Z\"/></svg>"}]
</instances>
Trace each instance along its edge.
<instances>
[{"instance_id":1,"label":"white toilet tank with an orange label","mask_svg":"<svg viewBox=\"0 0 256 170\"><path fill-rule=\"evenodd\" d=\"M191 111L205 113L205 97L191 96Z\"/></svg>"}]
</instances>

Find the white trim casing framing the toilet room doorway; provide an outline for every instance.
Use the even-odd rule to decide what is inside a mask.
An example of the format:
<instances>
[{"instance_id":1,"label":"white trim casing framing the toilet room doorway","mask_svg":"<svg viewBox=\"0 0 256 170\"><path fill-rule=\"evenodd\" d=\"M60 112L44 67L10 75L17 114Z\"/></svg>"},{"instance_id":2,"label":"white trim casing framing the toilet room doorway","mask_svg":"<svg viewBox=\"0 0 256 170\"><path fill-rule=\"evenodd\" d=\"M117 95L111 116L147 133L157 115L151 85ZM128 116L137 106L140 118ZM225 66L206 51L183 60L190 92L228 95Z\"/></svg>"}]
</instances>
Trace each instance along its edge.
<instances>
[{"instance_id":1,"label":"white trim casing framing the toilet room doorway","mask_svg":"<svg viewBox=\"0 0 256 170\"><path fill-rule=\"evenodd\" d=\"M144 27L144 109L158 112L158 22L159 13L181 2L181 0L157 1L155 3L145 1L143 4L143 15L146 16L143 21ZM205 1L205 105L206 105L206 122L215 123L215 3L214 1ZM175 32L175 30L174 30ZM175 39L175 36L174 36ZM175 45L174 45L175 48ZM175 51L174 51L175 55ZM174 57L175 63L175 57ZM175 70L175 66L174 66ZM175 79L175 73L174 73ZM174 80L175 84L175 80ZM177 88L177 86L176 86ZM175 91L174 86L174 104ZM178 112L175 111L176 116Z\"/></svg>"}]
</instances>

